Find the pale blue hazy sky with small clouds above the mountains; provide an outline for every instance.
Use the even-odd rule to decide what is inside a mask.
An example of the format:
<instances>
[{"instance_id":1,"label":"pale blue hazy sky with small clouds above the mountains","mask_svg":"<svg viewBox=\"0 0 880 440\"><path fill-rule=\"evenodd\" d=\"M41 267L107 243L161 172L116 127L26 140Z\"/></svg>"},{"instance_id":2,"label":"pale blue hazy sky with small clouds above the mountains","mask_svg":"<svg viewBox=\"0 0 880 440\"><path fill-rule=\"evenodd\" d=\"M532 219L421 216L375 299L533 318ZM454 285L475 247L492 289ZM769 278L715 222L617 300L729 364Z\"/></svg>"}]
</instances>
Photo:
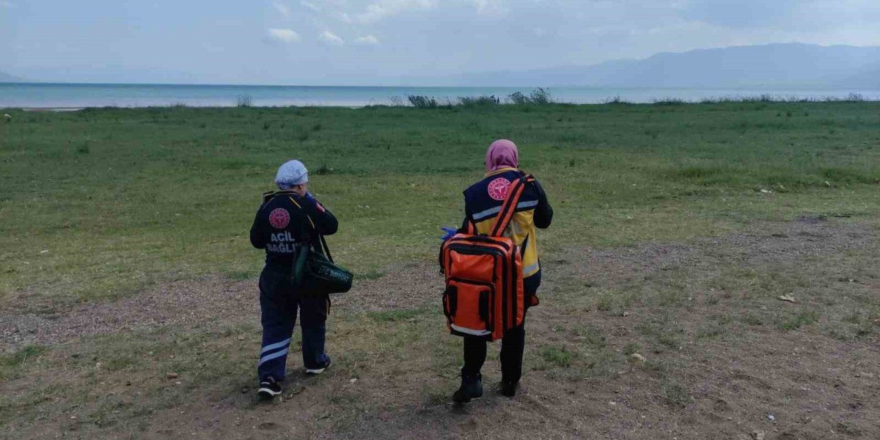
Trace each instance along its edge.
<instances>
[{"instance_id":1,"label":"pale blue hazy sky with small clouds above the mountains","mask_svg":"<svg viewBox=\"0 0 880 440\"><path fill-rule=\"evenodd\" d=\"M880 46L880 0L0 0L34 79L394 84L731 45Z\"/></svg>"}]
</instances>

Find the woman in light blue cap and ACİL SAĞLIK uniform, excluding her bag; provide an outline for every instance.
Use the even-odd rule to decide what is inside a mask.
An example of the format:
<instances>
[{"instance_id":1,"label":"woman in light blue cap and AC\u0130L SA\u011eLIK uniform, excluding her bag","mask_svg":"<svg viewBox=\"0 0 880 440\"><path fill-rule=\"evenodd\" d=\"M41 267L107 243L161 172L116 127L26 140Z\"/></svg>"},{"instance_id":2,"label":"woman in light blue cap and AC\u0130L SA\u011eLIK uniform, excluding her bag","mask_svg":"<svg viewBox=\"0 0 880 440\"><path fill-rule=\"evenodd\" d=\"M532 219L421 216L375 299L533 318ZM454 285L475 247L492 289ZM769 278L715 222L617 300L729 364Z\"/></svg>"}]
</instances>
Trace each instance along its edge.
<instances>
[{"instance_id":1,"label":"woman in light blue cap and AC\u0130L SA\u011eLIK uniform, excluding her bag","mask_svg":"<svg viewBox=\"0 0 880 440\"><path fill-rule=\"evenodd\" d=\"M308 191L309 172L298 160L278 168L279 191L263 194L263 202L251 226L251 244L266 250L266 266L260 274L260 323L262 347L257 361L260 397L281 394L290 337L299 311L303 329L303 363L307 374L320 374L330 366L324 352L326 318L330 298L299 291L290 279L297 246L319 248L319 235L336 232L336 217Z\"/></svg>"}]
</instances>

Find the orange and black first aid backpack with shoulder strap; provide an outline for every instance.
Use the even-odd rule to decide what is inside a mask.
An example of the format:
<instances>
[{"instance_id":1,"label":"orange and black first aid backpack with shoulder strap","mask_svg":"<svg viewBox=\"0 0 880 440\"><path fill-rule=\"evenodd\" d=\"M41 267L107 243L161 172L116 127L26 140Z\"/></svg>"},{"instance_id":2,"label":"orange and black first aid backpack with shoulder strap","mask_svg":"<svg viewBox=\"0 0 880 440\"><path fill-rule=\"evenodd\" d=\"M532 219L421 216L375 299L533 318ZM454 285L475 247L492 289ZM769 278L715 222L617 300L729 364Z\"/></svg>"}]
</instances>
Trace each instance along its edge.
<instances>
[{"instance_id":1,"label":"orange and black first aid backpack with shoulder strap","mask_svg":"<svg viewBox=\"0 0 880 440\"><path fill-rule=\"evenodd\" d=\"M489 235L476 235L468 221L468 233L452 236L441 248L443 308L451 334L495 341L523 323L523 257L519 246L502 234L525 186L534 180L526 175L510 184Z\"/></svg>"}]
</instances>

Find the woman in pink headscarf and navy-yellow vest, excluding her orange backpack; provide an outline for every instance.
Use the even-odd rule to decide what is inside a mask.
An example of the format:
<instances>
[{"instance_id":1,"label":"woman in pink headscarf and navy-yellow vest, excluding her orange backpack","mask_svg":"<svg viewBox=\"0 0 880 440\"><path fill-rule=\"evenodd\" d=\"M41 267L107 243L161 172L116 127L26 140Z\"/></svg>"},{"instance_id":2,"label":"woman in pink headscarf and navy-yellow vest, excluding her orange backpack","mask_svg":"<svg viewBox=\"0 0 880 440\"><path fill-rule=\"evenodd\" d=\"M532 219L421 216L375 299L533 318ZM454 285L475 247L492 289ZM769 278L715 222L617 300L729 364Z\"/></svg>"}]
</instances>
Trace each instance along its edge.
<instances>
[{"instance_id":1,"label":"woman in pink headscarf and navy-yellow vest, excluding her orange backpack","mask_svg":"<svg viewBox=\"0 0 880 440\"><path fill-rule=\"evenodd\" d=\"M468 231L473 225L478 234L488 234L495 223L510 183L524 176L519 169L517 145L507 139L499 139L486 151L486 176L465 191L465 220L460 231ZM538 305L538 287L541 268L538 259L538 238L535 228L546 229L553 222L553 208L547 202L544 188L535 180L525 187L517 211L504 231L504 237L512 238L523 251L523 275L526 310ZM486 362L486 340L465 336L465 365L461 369L461 386L452 400L465 403L483 395L480 369ZM501 393L507 397L517 394L519 379L523 372L525 327L518 326L504 333L501 345Z\"/></svg>"}]
</instances>

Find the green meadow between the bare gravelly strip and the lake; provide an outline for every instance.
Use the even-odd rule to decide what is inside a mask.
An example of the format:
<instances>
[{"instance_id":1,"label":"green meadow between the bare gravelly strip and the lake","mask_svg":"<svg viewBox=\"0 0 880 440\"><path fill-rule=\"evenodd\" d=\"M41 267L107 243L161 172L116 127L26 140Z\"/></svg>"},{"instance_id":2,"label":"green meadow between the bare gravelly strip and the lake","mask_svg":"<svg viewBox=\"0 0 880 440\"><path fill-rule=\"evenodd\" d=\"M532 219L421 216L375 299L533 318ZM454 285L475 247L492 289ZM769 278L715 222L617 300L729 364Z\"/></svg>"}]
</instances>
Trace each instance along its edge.
<instances>
[{"instance_id":1,"label":"green meadow between the bare gravelly strip and the lake","mask_svg":"<svg viewBox=\"0 0 880 440\"><path fill-rule=\"evenodd\" d=\"M341 219L334 256L363 279L431 261L438 228L459 223L461 191L502 136L556 209L540 236L547 250L800 215L869 218L880 214L878 107L7 109L0 300L99 300L196 275L255 276L262 259L246 232L290 158L311 167L313 191Z\"/></svg>"}]
</instances>

